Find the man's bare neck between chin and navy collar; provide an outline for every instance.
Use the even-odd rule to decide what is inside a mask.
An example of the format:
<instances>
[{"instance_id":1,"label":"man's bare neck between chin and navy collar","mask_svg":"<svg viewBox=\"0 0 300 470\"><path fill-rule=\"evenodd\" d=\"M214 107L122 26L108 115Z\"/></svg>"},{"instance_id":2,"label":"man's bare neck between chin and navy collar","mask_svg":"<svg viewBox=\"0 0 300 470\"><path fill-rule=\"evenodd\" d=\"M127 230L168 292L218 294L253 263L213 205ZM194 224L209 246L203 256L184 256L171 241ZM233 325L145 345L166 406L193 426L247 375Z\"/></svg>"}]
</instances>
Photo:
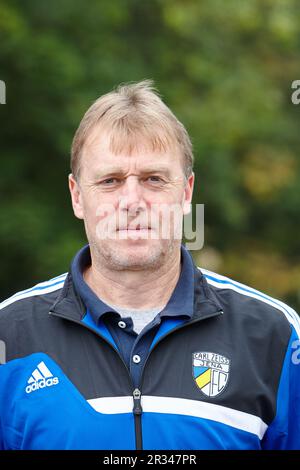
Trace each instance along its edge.
<instances>
[{"instance_id":1,"label":"man's bare neck between chin and navy collar","mask_svg":"<svg viewBox=\"0 0 300 470\"><path fill-rule=\"evenodd\" d=\"M111 271L93 263L83 273L85 282L108 304L123 308L151 309L170 299L180 275L180 247L167 263L153 272Z\"/></svg>"}]
</instances>

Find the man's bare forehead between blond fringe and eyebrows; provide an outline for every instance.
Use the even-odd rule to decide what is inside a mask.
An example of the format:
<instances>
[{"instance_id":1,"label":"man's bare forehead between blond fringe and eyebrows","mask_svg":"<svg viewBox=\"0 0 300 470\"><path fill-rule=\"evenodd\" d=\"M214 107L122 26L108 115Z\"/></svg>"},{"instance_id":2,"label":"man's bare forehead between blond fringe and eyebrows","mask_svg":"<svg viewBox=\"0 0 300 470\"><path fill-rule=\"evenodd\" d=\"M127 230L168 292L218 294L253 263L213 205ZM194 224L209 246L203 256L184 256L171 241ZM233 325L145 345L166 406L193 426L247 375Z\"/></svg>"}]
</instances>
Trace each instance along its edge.
<instances>
[{"instance_id":1,"label":"man's bare forehead between blond fringe and eyebrows","mask_svg":"<svg viewBox=\"0 0 300 470\"><path fill-rule=\"evenodd\" d=\"M111 133L94 129L83 147L81 168L97 169L101 172L126 169L132 164L139 169L154 171L176 171L182 168L180 150L173 143L164 148L159 143L153 145L153 142L138 136L124 139L124 145L122 143L115 142Z\"/></svg>"}]
</instances>

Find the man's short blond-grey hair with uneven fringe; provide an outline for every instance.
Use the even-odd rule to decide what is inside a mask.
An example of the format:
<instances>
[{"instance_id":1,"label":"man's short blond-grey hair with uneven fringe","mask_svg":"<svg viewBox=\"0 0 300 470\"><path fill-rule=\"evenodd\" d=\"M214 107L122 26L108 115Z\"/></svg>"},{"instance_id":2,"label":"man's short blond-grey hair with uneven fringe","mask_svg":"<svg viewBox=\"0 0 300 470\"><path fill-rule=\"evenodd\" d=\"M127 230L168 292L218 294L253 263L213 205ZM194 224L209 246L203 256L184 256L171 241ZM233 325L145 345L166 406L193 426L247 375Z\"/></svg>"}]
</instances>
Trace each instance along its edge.
<instances>
[{"instance_id":1,"label":"man's short blond-grey hair with uneven fringe","mask_svg":"<svg viewBox=\"0 0 300 470\"><path fill-rule=\"evenodd\" d=\"M119 85L100 96L84 114L71 149L71 171L79 177L82 149L96 126L110 135L110 150L131 154L142 142L154 152L178 148L183 171L193 170L193 150L183 124L161 100L152 80Z\"/></svg>"}]
</instances>

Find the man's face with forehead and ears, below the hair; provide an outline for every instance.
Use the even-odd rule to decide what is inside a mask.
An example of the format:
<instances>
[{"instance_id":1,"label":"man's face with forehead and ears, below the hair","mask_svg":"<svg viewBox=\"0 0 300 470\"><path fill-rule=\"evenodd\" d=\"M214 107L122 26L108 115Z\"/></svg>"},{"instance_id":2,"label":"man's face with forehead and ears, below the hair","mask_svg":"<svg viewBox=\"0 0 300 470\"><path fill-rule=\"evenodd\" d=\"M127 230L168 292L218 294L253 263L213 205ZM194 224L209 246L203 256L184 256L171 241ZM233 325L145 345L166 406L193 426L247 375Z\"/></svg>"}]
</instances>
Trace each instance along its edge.
<instances>
[{"instance_id":1,"label":"man's face with forehead and ears, below the hair","mask_svg":"<svg viewBox=\"0 0 300 470\"><path fill-rule=\"evenodd\" d=\"M178 149L146 145L114 154L95 129L85 144L79 181L69 178L75 215L84 220L92 258L114 270L157 269L181 243L194 176L186 180Z\"/></svg>"}]
</instances>

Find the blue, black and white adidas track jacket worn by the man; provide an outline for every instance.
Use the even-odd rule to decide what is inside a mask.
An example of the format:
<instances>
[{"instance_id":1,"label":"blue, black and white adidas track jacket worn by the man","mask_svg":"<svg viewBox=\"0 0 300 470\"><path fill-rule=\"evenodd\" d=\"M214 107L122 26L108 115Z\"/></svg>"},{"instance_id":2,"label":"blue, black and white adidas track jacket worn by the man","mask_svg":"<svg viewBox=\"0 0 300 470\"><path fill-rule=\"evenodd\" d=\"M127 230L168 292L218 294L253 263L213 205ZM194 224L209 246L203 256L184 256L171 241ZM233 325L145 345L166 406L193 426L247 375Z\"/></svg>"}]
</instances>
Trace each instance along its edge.
<instances>
[{"instance_id":1,"label":"blue, black and white adidas track jacket worn by the man","mask_svg":"<svg viewBox=\"0 0 300 470\"><path fill-rule=\"evenodd\" d=\"M1 304L2 449L300 449L300 322L194 269L194 314L166 319L134 388L71 274Z\"/></svg>"}]
</instances>

